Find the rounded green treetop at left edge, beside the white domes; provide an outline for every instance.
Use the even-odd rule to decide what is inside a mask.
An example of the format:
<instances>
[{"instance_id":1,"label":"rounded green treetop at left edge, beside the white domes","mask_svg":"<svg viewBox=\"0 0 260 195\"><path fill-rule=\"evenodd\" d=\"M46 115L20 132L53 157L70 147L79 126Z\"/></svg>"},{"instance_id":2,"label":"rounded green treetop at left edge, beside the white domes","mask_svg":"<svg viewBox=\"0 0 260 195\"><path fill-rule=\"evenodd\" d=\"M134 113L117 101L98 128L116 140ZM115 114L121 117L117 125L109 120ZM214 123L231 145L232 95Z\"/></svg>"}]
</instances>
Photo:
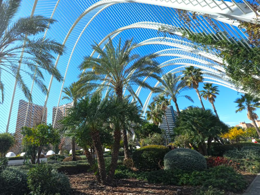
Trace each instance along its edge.
<instances>
[{"instance_id":1,"label":"rounded green treetop at left edge, beside the white domes","mask_svg":"<svg viewBox=\"0 0 260 195\"><path fill-rule=\"evenodd\" d=\"M0 133L0 156L4 157L8 150L15 145L15 138L10 133Z\"/></svg>"}]
</instances>

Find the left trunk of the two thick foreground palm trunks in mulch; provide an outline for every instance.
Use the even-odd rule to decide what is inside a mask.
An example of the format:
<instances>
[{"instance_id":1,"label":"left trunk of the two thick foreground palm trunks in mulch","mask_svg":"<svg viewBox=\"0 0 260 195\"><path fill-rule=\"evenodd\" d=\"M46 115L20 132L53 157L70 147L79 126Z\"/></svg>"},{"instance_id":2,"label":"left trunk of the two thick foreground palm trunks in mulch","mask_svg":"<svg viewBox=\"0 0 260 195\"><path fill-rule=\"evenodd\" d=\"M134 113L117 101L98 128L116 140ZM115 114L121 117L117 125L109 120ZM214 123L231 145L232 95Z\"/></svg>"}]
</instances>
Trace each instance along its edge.
<instances>
[{"instance_id":1,"label":"left trunk of the two thick foreground palm trunks in mulch","mask_svg":"<svg viewBox=\"0 0 260 195\"><path fill-rule=\"evenodd\" d=\"M105 159L103 155L103 148L100 141L100 135L98 131L92 131L91 136L93 139L93 144L96 148L96 155L97 155L97 165L99 169L99 178L101 184L105 185L107 183L106 178L106 166L105 166Z\"/></svg>"}]
</instances>

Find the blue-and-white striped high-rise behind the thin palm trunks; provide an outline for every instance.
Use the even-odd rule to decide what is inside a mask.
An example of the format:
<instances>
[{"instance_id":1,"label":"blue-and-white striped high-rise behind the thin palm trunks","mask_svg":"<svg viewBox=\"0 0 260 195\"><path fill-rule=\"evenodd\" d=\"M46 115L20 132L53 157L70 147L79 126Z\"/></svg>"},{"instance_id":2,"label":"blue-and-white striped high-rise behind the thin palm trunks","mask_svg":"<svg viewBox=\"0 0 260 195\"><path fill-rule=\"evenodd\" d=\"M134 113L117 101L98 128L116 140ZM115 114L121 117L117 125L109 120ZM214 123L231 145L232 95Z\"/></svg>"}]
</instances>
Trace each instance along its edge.
<instances>
[{"instance_id":1,"label":"blue-and-white striped high-rise behind the thin palm trunks","mask_svg":"<svg viewBox=\"0 0 260 195\"><path fill-rule=\"evenodd\" d=\"M170 133L173 134L173 128L176 127L176 122L175 122L176 112L174 111L172 106L169 106L166 109L166 118L167 118L167 121L168 121ZM165 130L166 136L168 138L168 142L171 142L171 138L170 138L170 134L169 134L169 130L168 130L168 125L167 125L165 116L163 116L162 117L162 123L159 125L159 127L161 129ZM165 139L166 139L166 136L164 136Z\"/></svg>"}]
</instances>

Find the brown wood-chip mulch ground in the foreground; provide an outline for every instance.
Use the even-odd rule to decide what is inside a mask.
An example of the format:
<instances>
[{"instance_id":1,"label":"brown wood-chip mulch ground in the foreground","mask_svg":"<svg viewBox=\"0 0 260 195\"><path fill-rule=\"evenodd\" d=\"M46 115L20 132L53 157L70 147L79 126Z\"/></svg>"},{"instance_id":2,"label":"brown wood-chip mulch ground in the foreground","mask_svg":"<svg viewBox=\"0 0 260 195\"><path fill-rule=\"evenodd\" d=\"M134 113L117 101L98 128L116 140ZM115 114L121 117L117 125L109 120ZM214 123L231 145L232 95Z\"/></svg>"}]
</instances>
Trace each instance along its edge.
<instances>
[{"instance_id":1,"label":"brown wood-chip mulch ground in the foreground","mask_svg":"<svg viewBox=\"0 0 260 195\"><path fill-rule=\"evenodd\" d=\"M255 174L242 173L250 184ZM96 182L93 173L79 173L68 175L72 187L72 195L194 195L200 187L148 184L137 179L114 179L109 186L102 186ZM227 192L227 195L238 193Z\"/></svg>"}]
</instances>

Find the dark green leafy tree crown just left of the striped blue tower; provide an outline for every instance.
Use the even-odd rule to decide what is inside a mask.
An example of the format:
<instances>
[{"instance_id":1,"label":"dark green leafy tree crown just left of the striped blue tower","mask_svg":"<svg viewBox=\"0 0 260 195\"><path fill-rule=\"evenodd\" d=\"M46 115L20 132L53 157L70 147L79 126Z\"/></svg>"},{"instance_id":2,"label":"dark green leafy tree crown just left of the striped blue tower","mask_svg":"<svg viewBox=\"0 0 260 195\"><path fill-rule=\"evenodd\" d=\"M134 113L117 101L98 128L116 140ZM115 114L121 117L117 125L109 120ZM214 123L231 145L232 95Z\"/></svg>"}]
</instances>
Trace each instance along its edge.
<instances>
[{"instance_id":1,"label":"dark green leafy tree crown just left of the striped blue tower","mask_svg":"<svg viewBox=\"0 0 260 195\"><path fill-rule=\"evenodd\" d=\"M135 134L139 138L146 138L149 135L152 135L153 133L162 133L161 128L159 128L158 125L155 125L154 123L150 123L148 121L144 122L141 126L141 128L135 130Z\"/></svg>"}]
</instances>

